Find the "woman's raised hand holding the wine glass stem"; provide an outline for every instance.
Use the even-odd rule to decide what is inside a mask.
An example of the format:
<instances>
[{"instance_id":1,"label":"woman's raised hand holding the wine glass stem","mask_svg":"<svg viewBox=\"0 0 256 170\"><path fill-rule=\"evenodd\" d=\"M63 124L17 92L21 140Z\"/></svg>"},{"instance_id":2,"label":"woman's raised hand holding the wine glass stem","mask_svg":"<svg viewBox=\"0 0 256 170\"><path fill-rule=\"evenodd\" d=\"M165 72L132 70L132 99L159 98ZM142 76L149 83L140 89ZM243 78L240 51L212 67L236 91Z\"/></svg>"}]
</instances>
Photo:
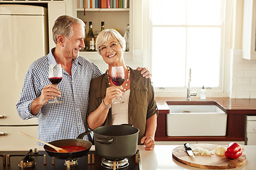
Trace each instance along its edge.
<instances>
[{"instance_id":1,"label":"woman's raised hand holding the wine glass stem","mask_svg":"<svg viewBox=\"0 0 256 170\"><path fill-rule=\"evenodd\" d=\"M110 86L107 88L106 97L104 103L106 106L110 106L114 98L122 96L122 86Z\"/></svg>"}]
</instances>

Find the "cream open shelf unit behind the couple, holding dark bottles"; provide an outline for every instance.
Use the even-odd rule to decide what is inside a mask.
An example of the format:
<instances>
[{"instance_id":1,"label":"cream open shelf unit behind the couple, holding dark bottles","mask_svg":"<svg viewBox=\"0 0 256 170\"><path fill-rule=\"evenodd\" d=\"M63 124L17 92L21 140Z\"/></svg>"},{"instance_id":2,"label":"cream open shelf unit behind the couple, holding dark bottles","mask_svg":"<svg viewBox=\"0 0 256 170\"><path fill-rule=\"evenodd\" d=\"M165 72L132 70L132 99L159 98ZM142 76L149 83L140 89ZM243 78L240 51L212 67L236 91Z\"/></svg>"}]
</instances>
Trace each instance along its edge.
<instances>
[{"instance_id":1,"label":"cream open shelf unit behind the couple, holding dark bottles","mask_svg":"<svg viewBox=\"0 0 256 170\"><path fill-rule=\"evenodd\" d=\"M133 53L133 1L129 1L129 8L76 8L77 17L86 23L86 35L89 30L89 21L92 21L92 30L94 34L100 33L101 22L105 22L105 29L117 29L124 36L127 24L129 24L129 52ZM80 55L89 60L102 60L102 57L95 52L80 52Z\"/></svg>"}]
</instances>

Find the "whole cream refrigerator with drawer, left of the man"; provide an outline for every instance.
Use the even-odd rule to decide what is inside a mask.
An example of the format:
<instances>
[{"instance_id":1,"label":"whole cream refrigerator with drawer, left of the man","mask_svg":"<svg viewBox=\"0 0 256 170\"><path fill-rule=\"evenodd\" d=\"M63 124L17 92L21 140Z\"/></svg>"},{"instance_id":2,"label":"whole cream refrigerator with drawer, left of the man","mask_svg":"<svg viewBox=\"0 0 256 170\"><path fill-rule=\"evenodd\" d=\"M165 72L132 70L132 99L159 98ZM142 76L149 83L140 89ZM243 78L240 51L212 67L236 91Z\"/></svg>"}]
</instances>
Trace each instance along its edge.
<instances>
[{"instance_id":1,"label":"whole cream refrigerator with drawer, left of the man","mask_svg":"<svg viewBox=\"0 0 256 170\"><path fill-rule=\"evenodd\" d=\"M18 117L16 103L25 74L33 61L48 54L47 8L0 4L0 143L13 145L18 131L37 137L36 118ZM27 140L25 145L34 141Z\"/></svg>"}]
</instances>

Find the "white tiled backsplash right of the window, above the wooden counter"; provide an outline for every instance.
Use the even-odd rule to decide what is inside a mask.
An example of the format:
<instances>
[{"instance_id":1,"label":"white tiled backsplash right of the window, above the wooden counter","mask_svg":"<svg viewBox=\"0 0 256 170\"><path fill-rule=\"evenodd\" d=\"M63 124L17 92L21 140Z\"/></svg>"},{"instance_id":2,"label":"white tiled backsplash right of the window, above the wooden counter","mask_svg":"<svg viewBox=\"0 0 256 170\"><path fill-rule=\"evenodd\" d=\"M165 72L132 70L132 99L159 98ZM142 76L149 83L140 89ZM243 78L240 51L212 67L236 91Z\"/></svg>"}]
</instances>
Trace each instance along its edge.
<instances>
[{"instance_id":1,"label":"white tiled backsplash right of the window, above the wooden counter","mask_svg":"<svg viewBox=\"0 0 256 170\"><path fill-rule=\"evenodd\" d=\"M230 70L230 98L256 98L256 60L242 58L242 50L230 53L233 67Z\"/></svg>"}]
</instances>

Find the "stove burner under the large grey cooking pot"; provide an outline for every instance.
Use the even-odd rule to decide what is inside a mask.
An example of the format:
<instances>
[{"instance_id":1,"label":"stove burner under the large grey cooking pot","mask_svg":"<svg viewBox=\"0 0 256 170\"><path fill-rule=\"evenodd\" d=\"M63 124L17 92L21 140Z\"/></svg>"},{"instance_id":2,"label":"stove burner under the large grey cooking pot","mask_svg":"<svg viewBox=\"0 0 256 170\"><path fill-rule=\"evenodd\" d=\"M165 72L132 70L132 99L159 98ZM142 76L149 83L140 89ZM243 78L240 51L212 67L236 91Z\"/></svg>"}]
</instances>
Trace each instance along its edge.
<instances>
[{"instance_id":1,"label":"stove burner under the large grey cooking pot","mask_svg":"<svg viewBox=\"0 0 256 170\"><path fill-rule=\"evenodd\" d=\"M116 169L122 169L129 165L128 159L120 159L120 160L110 160L102 158L101 165L107 169L114 169L114 164Z\"/></svg>"}]
</instances>

